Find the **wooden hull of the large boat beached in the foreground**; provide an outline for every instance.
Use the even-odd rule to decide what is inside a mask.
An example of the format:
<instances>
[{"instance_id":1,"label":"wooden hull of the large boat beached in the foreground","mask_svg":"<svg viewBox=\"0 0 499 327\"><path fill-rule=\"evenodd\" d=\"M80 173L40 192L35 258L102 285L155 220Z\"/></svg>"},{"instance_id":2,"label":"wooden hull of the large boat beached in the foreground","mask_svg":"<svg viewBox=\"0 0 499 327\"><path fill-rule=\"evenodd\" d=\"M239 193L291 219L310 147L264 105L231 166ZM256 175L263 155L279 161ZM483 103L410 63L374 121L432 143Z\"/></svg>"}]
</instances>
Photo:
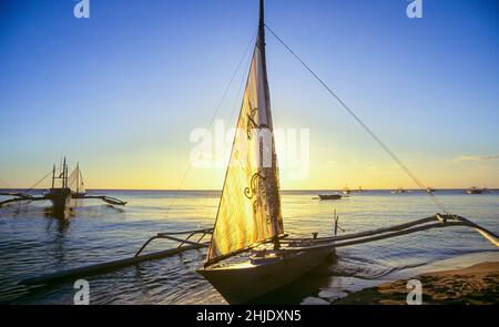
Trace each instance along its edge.
<instances>
[{"instance_id":1,"label":"wooden hull of the large boat beached in the foreground","mask_svg":"<svg viewBox=\"0 0 499 327\"><path fill-rule=\"evenodd\" d=\"M246 260L233 266L197 270L230 303L244 304L278 289L319 265L333 252L330 244L283 249L282 256L256 263Z\"/></svg>"}]
</instances>

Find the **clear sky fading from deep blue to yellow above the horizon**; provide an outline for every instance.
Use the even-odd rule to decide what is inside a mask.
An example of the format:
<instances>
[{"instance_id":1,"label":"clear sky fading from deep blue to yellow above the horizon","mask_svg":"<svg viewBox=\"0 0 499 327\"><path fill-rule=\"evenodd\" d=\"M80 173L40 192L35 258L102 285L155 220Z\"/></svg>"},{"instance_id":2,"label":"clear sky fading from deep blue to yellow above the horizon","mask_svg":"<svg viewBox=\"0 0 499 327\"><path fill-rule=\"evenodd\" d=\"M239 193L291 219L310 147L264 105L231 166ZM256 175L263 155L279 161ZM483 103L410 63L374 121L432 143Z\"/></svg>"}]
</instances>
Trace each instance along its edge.
<instances>
[{"instance_id":1,"label":"clear sky fading from deep blue to yellow above the horizon","mask_svg":"<svg viewBox=\"0 0 499 327\"><path fill-rule=\"evenodd\" d=\"M89 188L220 190L192 133L235 125L257 1L77 3L0 4L0 187L65 155ZM499 187L499 2L408 4L267 0L266 23L428 186ZM267 69L274 127L308 133L298 174L277 144L282 188L416 186L268 32Z\"/></svg>"}]
</instances>

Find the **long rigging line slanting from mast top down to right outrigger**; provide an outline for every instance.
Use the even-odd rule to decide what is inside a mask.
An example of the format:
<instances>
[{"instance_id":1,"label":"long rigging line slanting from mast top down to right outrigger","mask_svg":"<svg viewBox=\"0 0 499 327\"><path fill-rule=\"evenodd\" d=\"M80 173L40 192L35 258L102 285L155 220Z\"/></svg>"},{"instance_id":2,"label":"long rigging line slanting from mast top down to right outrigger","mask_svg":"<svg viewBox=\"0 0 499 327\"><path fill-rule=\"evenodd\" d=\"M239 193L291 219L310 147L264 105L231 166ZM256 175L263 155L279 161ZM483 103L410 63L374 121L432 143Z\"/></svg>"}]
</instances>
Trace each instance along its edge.
<instances>
[{"instance_id":1,"label":"long rigging line slanting from mast top down to right outrigger","mask_svg":"<svg viewBox=\"0 0 499 327\"><path fill-rule=\"evenodd\" d=\"M277 41L279 41L284 45L284 48L286 48L308 70L308 72L310 72L314 75L314 78L320 84L323 84L323 86L329 92L329 94L332 94L339 102L339 104L357 121L357 123L360 124L360 126L376 141L376 143L378 143L378 145L383 150L385 150L385 152L398 164L398 166L420 188L425 190L425 192L429 195L429 197L434 201L434 203L445 213L450 214L446 208L446 206L444 205L444 203L435 194L432 194L432 192L429 191L429 188L409 170L409 167L407 167L404 164L404 162L400 159L398 159L398 156L387 145L385 145L385 143L383 143L383 141L357 116L357 114L350 108L348 108L348 105L346 105L345 102L338 95L336 95L336 93L333 92L333 90L329 86L327 86L327 84L295 52L293 52L293 50L286 43L284 43L284 41L279 37L277 37L277 34L274 33L274 31L267 24L265 24L265 27L277 39Z\"/></svg>"}]
</instances>

